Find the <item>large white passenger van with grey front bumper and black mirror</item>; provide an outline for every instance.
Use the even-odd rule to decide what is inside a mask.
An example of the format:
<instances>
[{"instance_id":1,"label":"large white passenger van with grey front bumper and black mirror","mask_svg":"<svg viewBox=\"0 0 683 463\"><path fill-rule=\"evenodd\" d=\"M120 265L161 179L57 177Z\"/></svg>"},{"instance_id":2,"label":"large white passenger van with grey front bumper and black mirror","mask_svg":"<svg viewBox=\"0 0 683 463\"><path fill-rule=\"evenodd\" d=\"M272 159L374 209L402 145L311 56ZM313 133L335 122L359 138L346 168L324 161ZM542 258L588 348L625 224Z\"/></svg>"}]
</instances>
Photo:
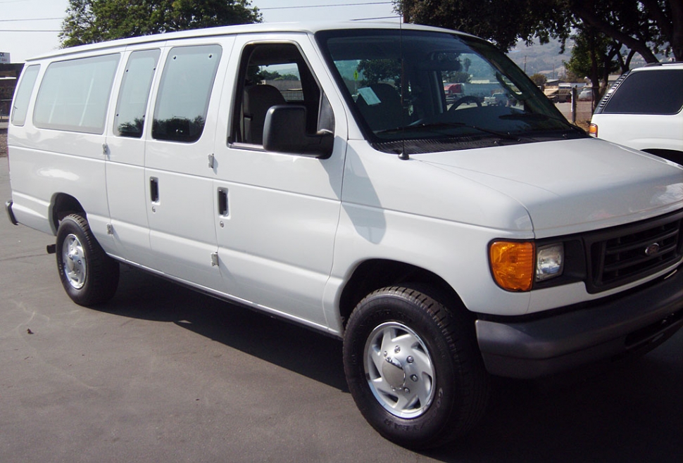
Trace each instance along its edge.
<instances>
[{"instance_id":1,"label":"large white passenger van with grey front bumper and black mirror","mask_svg":"<svg viewBox=\"0 0 683 463\"><path fill-rule=\"evenodd\" d=\"M447 100L456 72L510 104ZM343 338L353 398L401 445L472 429L490 374L683 324L683 169L569 125L467 34L262 24L63 49L26 63L8 145L8 214L56 236L75 303L111 299L123 263Z\"/></svg>"}]
</instances>

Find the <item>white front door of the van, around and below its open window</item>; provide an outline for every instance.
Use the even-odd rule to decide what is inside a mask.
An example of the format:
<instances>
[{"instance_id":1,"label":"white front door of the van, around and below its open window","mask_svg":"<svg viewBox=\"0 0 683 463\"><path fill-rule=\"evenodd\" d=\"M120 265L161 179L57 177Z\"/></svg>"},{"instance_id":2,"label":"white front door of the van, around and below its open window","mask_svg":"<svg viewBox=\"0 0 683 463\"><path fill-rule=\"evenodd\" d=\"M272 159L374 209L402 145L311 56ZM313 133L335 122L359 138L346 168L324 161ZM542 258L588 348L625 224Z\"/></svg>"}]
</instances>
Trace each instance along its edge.
<instances>
[{"instance_id":1,"label":"white front door of the van, around and below its open window","mask_svg":"<svg viewBox=\"0 0 683 463\"><path fill-rule=\"evenodd\" d=\"M334 152L328 159L271 153L226 143L246 44L296 44L334 110ZM227 71L216 137L214 196L229 213L215 213L224 290L239 300L325 329L322 293L330 275L342 197L346 118L334 84L306 34L237 37Z\"/></svg>"}]
</instances>

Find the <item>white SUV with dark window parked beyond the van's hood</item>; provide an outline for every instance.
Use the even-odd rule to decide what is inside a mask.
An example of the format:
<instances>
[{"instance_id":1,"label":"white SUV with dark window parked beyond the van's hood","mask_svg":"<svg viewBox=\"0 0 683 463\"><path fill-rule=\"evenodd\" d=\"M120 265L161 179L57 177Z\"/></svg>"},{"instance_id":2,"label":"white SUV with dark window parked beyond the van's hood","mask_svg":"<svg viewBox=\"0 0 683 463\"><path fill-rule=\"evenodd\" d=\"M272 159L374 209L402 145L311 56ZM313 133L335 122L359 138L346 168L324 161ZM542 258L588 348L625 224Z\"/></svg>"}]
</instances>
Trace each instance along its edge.
<instances>
[{"instance_id":1,"label":"white SUV with dark window parked beyond the van's hood","mask_svg":"<svg viewBox=\"0 0 683 463\"><path fill-rule=\"evenodd\" d=\"M590 134L683 165L683 63L622 75L598 103Z\"/></svg>"}]
</instances>

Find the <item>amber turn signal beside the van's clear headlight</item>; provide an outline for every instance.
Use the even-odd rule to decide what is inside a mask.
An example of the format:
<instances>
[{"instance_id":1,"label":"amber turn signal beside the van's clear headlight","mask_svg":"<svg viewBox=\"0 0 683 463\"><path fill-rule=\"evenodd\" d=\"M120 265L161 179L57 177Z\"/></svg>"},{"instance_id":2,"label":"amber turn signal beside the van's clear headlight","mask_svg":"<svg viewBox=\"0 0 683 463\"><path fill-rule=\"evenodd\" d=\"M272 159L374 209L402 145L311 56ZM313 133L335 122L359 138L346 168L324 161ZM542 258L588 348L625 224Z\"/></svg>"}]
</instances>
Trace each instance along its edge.
<instances>
[{"instance_id":1,"label":"amber turn signal beside the van's clear headlight","mask_svg":"<svg viewBox=\"0 0 683 463\"><path fill-rule=\"evenodd\" d=\"M491 272L496 283L508 291L530 291L534 281L534 243L495 241L489 248Z\"/></svg>"}]
</instances>

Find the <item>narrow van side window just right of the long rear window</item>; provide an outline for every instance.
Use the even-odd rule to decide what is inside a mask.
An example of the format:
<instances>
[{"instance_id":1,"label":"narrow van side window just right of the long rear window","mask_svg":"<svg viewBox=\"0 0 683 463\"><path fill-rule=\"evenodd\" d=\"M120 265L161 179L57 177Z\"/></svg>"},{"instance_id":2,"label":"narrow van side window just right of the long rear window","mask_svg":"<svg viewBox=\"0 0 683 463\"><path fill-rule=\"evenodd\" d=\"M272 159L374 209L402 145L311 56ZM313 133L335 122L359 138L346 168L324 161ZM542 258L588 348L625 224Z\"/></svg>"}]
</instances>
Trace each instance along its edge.
<instances>
[{"instance_id":1,"label":"narrow van side window just right of the long rear window","mask_svg":"<svg viewBox=\"0 0 683 463\"><path fill-rule=\"evenodd\" d=\"M142 137L144 113L152 78L161 50L134 51L128 58L116 103L114 133L120 137Z\"/></svg>"}]
</instances>

